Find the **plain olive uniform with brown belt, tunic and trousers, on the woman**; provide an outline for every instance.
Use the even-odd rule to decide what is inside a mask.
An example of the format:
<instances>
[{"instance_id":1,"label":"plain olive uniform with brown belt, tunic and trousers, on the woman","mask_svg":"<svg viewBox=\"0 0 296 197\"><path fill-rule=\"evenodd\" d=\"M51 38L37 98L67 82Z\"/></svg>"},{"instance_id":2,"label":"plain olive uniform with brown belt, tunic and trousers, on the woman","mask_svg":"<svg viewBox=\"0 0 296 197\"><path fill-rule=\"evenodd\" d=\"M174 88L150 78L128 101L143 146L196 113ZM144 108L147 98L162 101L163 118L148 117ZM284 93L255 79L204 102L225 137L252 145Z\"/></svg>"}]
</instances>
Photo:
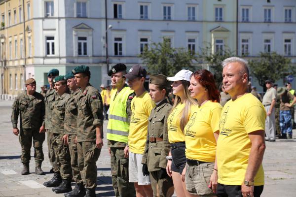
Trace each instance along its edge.
<instances>
[{"instance_id":1,"label":"plain olive uniform with brown belt, tunic and trousers, on the woman","mask_svg":"<svg viewBox=\"0 0 296 197\"><path fill-rule=\"evenodd\" d=\"M173 180L167 174L160 179L161 168L166 169L166 156L171 145L168 141L167 118L172 105L164 99L158 103L148 118L148 134L142 164L148 165L154 197L171 197L174 194Z\"/></svg>"}]
</instances>

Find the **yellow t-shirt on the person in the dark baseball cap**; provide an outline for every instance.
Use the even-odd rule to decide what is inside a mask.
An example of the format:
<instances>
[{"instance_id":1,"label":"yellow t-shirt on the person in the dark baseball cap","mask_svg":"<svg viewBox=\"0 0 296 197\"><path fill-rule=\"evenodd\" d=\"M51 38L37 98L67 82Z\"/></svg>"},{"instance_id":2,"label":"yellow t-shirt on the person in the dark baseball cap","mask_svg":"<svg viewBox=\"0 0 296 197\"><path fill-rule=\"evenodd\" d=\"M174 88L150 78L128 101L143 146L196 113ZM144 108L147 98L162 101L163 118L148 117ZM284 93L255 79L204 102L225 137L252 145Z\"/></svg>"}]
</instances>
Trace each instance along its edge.
<instances>
[{"instance_id":1,"label":"yellow t-shirt on the person in the dark baseball cap","mask_svg":"<svg viewBox=\"0 0 296 197\"><path fill-rule=\"evenodd\" d=\"M143 154L147 139L148 117L155 103L150 99L146 91L141 96L135 96L131 102L132 116L130 131L128 135L128 145L130 152Z\"/></svg>"}]
</instances>

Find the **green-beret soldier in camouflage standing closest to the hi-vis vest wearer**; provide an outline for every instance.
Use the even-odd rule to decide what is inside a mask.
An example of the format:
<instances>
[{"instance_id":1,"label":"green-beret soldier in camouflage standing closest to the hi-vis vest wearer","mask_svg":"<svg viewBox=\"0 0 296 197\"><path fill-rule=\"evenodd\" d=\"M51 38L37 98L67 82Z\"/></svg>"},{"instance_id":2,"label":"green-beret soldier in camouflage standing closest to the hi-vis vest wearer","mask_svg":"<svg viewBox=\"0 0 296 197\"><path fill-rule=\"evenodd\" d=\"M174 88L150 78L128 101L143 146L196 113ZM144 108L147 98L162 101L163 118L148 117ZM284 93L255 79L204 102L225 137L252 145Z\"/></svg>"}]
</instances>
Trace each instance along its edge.
<instances>
[{"instance_id":1,"label":"green-beret soldier in camouflage standing closest to the hi-vis vest wearer","mask_svg":"<svg viewBox=\"0 0 296 197\"><path fill-rule=\"evenodd\" d=\"M78 167L86 189L84 197L95 197L96 161L103 146L103 102L99 91L89 84L88 66L77 66L72 72L75 83L81 88L77 95Z\"/></svg>"}]
</instances>

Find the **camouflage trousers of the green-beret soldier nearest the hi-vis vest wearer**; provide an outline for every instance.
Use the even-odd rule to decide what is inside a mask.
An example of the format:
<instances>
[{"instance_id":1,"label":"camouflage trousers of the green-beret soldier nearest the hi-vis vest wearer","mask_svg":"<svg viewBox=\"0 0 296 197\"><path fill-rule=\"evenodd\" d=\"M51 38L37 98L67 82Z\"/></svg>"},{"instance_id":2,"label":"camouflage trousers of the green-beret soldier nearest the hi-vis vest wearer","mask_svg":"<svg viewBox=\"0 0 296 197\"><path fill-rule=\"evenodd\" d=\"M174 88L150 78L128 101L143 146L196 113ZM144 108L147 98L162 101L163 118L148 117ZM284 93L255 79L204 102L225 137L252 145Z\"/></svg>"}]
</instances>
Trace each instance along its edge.
<instances>
[{"instance_id":1,"label":"camouflage trousers of the green-beret soldier nearest the hi-vis vest wearer","mask_svg":"<svg viewBox=\"0 0 296 197\"><path fill-rule=\"evenodd\" d=\"M77 142L78 167L82 182L87 189L97 187L97 165L101 149L96 147L96 141Z\"/></svg>"}]
</instances>

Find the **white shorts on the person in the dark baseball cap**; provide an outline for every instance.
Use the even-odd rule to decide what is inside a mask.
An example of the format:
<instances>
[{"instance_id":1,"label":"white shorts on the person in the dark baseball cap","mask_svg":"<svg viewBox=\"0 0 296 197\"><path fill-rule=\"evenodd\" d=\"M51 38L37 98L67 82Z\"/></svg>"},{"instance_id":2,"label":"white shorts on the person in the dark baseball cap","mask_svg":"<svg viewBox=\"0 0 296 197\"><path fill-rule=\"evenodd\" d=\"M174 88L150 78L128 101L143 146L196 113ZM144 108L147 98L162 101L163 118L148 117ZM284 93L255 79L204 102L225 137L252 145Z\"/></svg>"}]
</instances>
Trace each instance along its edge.
<instances>
[{"instance_id":1,"label":"white shorts on the person in the dark baseball cap","mask_svg":"<svg viewBox=\"0 0 296 197\"><path fill-rule=\"evenodd\" d=\"M143 154L129 152L129 159L128 159L129 182L138 183L138 185L151 185L150 177L143 175L142 158L143 158Z\"/></svg>"}]
</instances>

